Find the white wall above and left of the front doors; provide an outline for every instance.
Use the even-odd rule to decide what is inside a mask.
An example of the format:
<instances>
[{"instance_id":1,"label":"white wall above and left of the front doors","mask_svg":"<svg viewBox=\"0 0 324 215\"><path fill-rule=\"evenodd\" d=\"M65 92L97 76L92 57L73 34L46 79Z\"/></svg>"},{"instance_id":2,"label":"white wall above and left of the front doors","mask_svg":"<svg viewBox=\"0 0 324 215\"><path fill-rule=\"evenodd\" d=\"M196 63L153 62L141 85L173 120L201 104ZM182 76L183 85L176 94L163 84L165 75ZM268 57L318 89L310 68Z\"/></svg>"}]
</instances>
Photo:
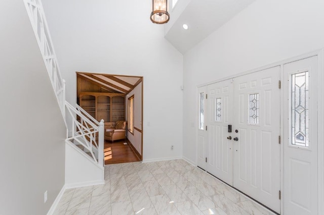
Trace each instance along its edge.
<instances>
[{"instance_id":1,"label":"white wall above and left of the front doors","mask_svg":"<svg viewBox=\"0 0 324 215\"><path fill-rule=\"evenodd\" d=\"M323 47L323 9L322 0L258 0L184 55L186 158L196 161L196 86Z\"/></svg>"}]
</instances>

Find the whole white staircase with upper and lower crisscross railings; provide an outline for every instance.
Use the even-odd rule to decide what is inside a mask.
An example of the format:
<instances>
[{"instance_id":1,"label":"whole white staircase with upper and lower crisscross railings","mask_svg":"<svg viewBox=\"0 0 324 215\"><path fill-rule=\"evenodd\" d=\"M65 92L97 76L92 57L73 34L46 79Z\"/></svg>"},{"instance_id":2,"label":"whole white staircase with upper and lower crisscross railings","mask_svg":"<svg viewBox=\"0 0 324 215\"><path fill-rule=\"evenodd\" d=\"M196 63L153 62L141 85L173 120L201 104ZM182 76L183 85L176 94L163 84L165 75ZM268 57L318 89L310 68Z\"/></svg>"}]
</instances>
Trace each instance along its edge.
<instances>
[{"instance_id":1,"label":"whole white staircase with upper and lower crisscross railings","mask_svg":"<svg viewBox=\"0 0 324 215\"><path fill-rule=\"evenodd\" d=\"M41 0L23 0L66 126L65 187L104 183L104 122L65 100L62 79ZM66 111L72 119L68 137Z\"/></svg>"}]
</instances>

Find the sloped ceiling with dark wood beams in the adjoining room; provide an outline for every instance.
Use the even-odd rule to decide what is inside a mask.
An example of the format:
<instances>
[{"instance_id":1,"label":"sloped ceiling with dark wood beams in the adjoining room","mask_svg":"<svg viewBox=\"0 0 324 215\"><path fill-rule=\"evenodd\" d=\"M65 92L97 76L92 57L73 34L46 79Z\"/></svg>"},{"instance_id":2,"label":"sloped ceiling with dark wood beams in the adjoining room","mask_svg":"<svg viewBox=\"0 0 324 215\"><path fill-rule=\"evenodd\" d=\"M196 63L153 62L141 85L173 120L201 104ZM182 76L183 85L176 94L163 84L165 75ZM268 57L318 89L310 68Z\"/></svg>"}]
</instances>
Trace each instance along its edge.
<instances>
[{"instance_id":1,"label":"sloped ceiling with dark wood beams in the adjoining room","mask_svg":"<svg viewBox=\"0 0 324 215\"><path fill-rule=\"evenodd\" d=\"M128 94L142 81L142 77L93 74L77 72L77 78L84 79L111 93Z\"/></svg>"}]
</instances>

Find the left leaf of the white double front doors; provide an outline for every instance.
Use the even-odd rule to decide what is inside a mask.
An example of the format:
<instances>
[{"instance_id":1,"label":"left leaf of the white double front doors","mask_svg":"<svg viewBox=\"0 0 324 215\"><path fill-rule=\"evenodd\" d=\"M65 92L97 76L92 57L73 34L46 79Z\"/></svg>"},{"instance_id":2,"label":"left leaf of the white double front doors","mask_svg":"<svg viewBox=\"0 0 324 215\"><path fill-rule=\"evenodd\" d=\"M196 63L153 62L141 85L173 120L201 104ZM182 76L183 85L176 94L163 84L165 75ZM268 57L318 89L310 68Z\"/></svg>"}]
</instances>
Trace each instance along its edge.
<instances>
[{"instance_id":1,"label":"left leaf of the white double front doors","mask_svg":"<svg viewBox=\"0 0 324 215\"><path fill-rule=\"evenodd\" d=\"M207 92L207 171L233 185L233 141L228 132L228 125L233 124L232 81L210 84Z\"/></svg>"}]
</instances>

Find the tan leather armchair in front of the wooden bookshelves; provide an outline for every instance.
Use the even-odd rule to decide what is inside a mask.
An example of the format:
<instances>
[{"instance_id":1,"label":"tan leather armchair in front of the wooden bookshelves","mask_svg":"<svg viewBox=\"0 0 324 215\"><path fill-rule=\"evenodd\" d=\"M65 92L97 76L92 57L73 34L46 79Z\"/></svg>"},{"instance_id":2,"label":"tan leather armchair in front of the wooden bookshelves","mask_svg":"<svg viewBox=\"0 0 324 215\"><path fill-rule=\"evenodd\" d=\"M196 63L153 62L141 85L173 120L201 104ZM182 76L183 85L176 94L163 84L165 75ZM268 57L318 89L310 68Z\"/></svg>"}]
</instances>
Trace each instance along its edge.
<instances>
[{"instance_id":1,"label":"tan leather armchair in front of the wooden bookshelves","mask_svg":"<svg viewBox=\"0 0 324 215\"><path fill-rule=\"evenodd\" d=\"M126 121L116 121L105 125L105 140L115 141L125 139Z\"/></svg>"}]
</instances>

